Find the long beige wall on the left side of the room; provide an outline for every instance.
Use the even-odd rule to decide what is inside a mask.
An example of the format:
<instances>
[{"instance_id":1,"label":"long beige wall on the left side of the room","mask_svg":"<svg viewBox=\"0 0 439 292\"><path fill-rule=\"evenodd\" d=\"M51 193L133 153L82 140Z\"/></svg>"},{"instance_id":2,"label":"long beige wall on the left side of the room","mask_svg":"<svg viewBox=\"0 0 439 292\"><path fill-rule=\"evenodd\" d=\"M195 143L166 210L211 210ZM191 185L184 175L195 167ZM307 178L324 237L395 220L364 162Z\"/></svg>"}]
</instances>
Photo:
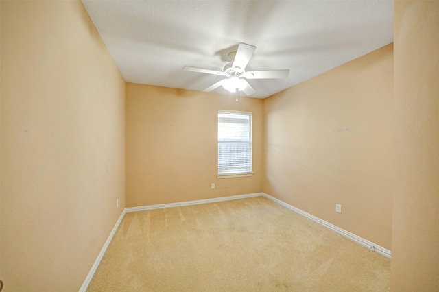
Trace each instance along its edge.
<instances>
[{"instance_id":1,"label":"long beige wall on the left side of the room","mask_svg":"<svg viewBox=\"0 0 439 292\"><path fill-rule=\"evenodd\" d=\"M124 207L125 82L80 1L1 1L1 81L4 291L78 291Z\"/></svg>"}]
</instances>

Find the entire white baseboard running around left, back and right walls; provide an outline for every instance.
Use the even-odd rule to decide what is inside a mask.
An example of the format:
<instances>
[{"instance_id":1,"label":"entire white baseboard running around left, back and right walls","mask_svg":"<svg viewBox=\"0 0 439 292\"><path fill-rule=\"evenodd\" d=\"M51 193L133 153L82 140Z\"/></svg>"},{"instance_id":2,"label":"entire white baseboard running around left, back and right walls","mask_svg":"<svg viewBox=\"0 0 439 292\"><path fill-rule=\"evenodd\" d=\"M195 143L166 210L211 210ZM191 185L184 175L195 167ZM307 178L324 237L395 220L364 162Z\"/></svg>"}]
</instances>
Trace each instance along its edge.
<instances>
[{"instance_id":1,"label":"entire white baseboard running around left, back and right walls","mask_svg":"<svg viewBox=\"0 0 439 292\"><path fill-rule=\"evenodd\" d=\"M108 248L108 245L110 245L110 242L112 241L113 236L115 236L117 228L119 228L119 225L127 212L139 212L139 211L145 211L145 210L156 210L156 209L163 209L163 208L174 208L174 207L182 207L182 206L190 206L190 205L225 202L225 201L231 201L233 199L245 199L248 197L260 197L260 196L271 199L273 202L276 202L277 204L280 204L281 206L284 206L284 207L288 208L289 210L293 210L294 212L297 212L298 214L305 216L308 219L311 219L312 221L316 221L317 223L320 223L322 226L325 226L325 227L337 232L338 234L342 234L342 236L345 236L348 239L351 239L352 241L355 241L356 243L359 243L360 245L367 247L368 249L372 250L373 252L377 252L378 254L385 256L386 258L390 258L390 256L392 255L392 252L390 252L390 250L386 250L384 247L381 247L375 243L372 243L366 239L363 239L360 236L357 236L351 232L348 232L342 228L339 228L339 227L337 227L337 226L335 226L327 221L324 221L316 216L313 216L305 211L302 211L299 208L296 208L292 205L289 205L289 204L281 201L280 199L276 199L275 197L272 197L266 193L251 193L251 194L247 194L247 195L233 195L233 196L228 196L228 197L216 197L213 199L197 199L194 201L130 207L130 208L123 209L122 214L120 215L119 219L117 220L115 227L112 228L111 233L108 236L108 239L106 240L104 246L102 247L101 252L99 252L99 255L97 256L97 258L95 260L95 263L93 263L93 266L91 267L91 270L88 272L88 275L87 275L86 279L84 280L84 283L82 283L82 286L81 286L79 291L85 292L87 290L88 285L91 282L91 279L93 279L93 276L95 275L97 267L99 267L99 263L101 263L101 260L104 257L104 254Z\"/></svg>"}]
</instances>

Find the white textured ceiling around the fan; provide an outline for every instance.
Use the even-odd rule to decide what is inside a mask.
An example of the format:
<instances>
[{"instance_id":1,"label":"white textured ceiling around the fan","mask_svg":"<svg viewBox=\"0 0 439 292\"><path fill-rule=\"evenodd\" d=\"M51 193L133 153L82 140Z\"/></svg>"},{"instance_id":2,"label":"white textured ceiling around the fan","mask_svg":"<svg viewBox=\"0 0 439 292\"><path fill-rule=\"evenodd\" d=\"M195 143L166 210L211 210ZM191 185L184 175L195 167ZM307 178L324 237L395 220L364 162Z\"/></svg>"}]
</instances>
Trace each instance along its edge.
<instances>
[{"instance_id":1,"label":"white textured ceiling around the fan","mask_svg":"<svg viewBox=\"0 0 439 292\"><path fill-rule=\"evenodd\" d=\"M224 78L182 67L219 70L239 42L257 47L246 71L290 69L286 79L248 80L264 98L393 41L388 0L82 2L126 82L171 88Z\"/></svg>"}]
</instances>

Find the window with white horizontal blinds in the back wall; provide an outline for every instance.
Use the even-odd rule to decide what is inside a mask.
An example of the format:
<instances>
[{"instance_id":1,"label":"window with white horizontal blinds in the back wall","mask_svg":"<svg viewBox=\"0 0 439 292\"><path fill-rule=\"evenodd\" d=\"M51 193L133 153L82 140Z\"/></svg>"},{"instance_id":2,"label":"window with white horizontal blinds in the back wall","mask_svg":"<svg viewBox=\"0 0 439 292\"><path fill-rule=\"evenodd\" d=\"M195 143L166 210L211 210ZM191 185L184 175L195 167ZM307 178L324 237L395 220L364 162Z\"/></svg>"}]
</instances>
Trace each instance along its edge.
<instances>
[{"instance_id":1,"label":"window with white horizontal blinds in the back wall","mask_svg":"<svg viewBox=\"0 0 439 292\"><path fill-rule=\"evenodd\" d=\"M252 113L218 111L218 178L252 173Z\"/></svg>"}]
</instances>

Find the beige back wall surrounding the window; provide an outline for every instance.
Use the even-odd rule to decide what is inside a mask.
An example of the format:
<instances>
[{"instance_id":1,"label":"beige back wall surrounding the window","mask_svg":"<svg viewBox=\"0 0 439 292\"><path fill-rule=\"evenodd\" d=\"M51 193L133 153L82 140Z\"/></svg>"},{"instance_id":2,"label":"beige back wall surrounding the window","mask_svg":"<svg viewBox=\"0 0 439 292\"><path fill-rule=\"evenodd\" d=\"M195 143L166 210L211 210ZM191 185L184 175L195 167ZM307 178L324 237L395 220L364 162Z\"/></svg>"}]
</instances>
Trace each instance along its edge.
<instances>
[{"instance_id":1,"label":"beige back wall surrounding the window","mask_svg":"<svg viewBox=\"0 0 439 292\"><path fill-rule=\"evenodd\" d=\"M126 84L126 206L262 191L261 99ZM253 170L217 179L217 112L253 112ZM214 183L216 188L211 189Z\"/></svg>"}]
</instances>

